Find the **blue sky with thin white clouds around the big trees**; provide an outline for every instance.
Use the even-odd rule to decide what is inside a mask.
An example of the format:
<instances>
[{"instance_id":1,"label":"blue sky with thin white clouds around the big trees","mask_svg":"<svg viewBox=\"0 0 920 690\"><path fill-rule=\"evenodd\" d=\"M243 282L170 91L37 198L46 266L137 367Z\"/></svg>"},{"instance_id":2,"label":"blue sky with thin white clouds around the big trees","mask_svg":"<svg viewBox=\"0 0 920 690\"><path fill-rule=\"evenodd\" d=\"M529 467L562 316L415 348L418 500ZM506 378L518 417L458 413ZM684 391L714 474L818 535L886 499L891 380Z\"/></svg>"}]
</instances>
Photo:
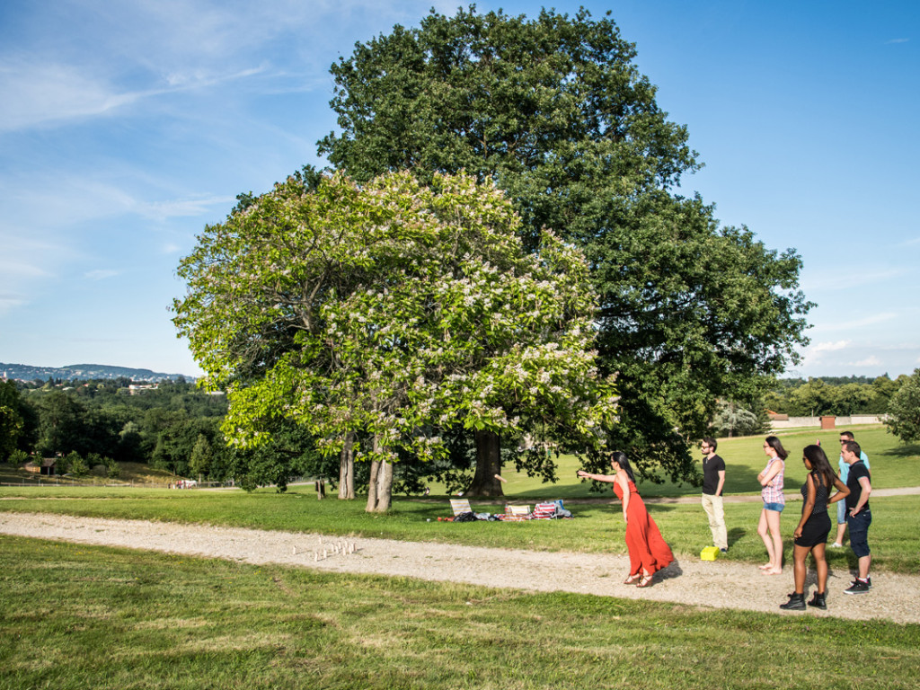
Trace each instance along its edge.
<instances>
[{"instance_id":1,"label":"blue sky with thin white clouds around the big trees","mask_svg":"<svg viewBox=\"0 0 920 690\"><path fill-rule=\"evenodd\" d=\"M168 311L178 259L237 193L325 164L330 63L459 5L6 0L0 362L200 374ZM920 367L920 5L583 5L612 10L661 108L687 125L706 167L684 193L799 251L818 306L788 374ZM477 3L499 7L540 5Z\"/></svg>"}]
</instances>

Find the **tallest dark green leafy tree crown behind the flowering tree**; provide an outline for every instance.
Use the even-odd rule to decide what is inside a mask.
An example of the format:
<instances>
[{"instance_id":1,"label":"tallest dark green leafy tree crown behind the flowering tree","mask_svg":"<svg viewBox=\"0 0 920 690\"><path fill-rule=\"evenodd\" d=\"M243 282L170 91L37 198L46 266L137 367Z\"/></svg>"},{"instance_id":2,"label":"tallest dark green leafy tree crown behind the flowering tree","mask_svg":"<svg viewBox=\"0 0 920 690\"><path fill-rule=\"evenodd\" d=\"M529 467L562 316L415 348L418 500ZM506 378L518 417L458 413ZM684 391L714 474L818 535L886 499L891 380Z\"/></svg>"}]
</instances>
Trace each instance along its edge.
<instances>
[{"instance_id":1,"label":"tallest dark green leafy tree crown behind the flowering tree","mask_svg":"<svg viewBox=\"0 0 920 690\"><path fill-rule=\"evenodd\" d=\"M794 250L719 227L711 206L674 193L696 154L635 56L609 16L585 10L432 10L332 65L339 132L319 151L359 181L398 169L491 179L527 247L544 227L580 246L623 395L610 443L646 474L689 478L686 440L717 397L753 397L797 360L810 305Z\"/></svg>"}]
</instances>

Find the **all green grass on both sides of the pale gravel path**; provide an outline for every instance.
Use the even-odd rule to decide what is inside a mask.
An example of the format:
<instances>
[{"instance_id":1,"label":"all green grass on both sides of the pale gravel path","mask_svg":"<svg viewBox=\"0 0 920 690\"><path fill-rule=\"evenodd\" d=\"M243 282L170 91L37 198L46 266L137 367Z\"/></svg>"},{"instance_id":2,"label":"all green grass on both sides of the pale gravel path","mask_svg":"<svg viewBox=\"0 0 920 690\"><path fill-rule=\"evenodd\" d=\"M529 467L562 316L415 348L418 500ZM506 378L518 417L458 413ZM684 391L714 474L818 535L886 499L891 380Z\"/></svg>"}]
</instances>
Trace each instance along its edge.
<instances>
[{"instance_id":1,"label":"all green grass on both sides of the pale gravel path","mask_svg":"<svg viewBox=\"0 0 920 690\"><path fill-rule=\"evenodd\" d=\"M870 457L874 486L920 484L920 448L898 446L879 429L856 433ZM836 433L820 436L836 449ZM804 479L795 461L816 435L782 438L794 490ZM751 484L764 464L761 441L719 443L730 493L757 492ZM397 497L389 514L371 515L362 500L316 500L309 486L285 494L3 487L0 511L622 552L618 506L609 492L587 500L597 495L575 479L575 468L573 458L561 458L556 486L513 474L506 485L515 503L569 500L576 515L571 521L440 523L436 518L449 514L443 495ZM643 492L698 495L696 488L671 485ZM873 500L876 571L920 571L918 500ZM474 500L473 507L495 512L500 503ZM761 561L759 502L726 507L728 558ZM784 530L792 531L798 508L792 503L783 513ZM650 503L650 512L677 554L696 557L707 546L707 522L696 500ZM0 552L0 690L913 688L920 663L916 625L333 575L6 536L0 536ZM832 567L855 565L849 549L829 552L829 559Z\"/></svg>"}]
</instances>

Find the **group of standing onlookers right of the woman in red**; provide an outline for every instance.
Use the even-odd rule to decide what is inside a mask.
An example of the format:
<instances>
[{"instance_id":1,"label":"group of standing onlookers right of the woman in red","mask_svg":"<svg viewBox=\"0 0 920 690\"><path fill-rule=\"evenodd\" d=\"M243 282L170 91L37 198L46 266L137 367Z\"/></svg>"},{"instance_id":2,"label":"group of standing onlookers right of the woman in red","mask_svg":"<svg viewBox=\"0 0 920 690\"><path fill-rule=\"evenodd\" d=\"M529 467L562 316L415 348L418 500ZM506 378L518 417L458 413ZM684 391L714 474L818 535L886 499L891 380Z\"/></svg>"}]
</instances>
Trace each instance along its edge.
<instances>
[{"instance_id":1,"label":"group of standing onlookers right of the woman in red","mask_svg":"<svg viewBox=\"0 0 920 690\"><path fill-rule=\"evenodd\" d=\"M722 507L722 488L725 484L725 462L716 454L718 443L705 438L703 452L703 508L709 518L709 527L715 546L723 553L728 550L725 528L725 511ZM776 436L764 441L766 466L757 475L761 485L763 510L757 525L757 534L764 540L767 562L760 566L765 575L778 575L783 571L783 537L779 531L779 517L786 507L783 493L788 452ZM837 535L832 547L840 548L847 526L850 546L857 557L857 578L845 590L847 594L866 593L872 587L868 575L871 562L868 547L868 526L872 523L868 497L872 491L868 457L849 431L840 434L839 476L834 473L820 443L805 446L802 463L808 477L802 485L802 512L793 532L793 573L795 592L789 594L782 609L803 610L808 606L827 608L827 559L825 548L831 533L831 518L827 506L838 503ZM832 490L834 491L832 495ZM805 560L808 555L817 571L817 590L811 601L805 602Z\"/></svg>"}]
</instances>

